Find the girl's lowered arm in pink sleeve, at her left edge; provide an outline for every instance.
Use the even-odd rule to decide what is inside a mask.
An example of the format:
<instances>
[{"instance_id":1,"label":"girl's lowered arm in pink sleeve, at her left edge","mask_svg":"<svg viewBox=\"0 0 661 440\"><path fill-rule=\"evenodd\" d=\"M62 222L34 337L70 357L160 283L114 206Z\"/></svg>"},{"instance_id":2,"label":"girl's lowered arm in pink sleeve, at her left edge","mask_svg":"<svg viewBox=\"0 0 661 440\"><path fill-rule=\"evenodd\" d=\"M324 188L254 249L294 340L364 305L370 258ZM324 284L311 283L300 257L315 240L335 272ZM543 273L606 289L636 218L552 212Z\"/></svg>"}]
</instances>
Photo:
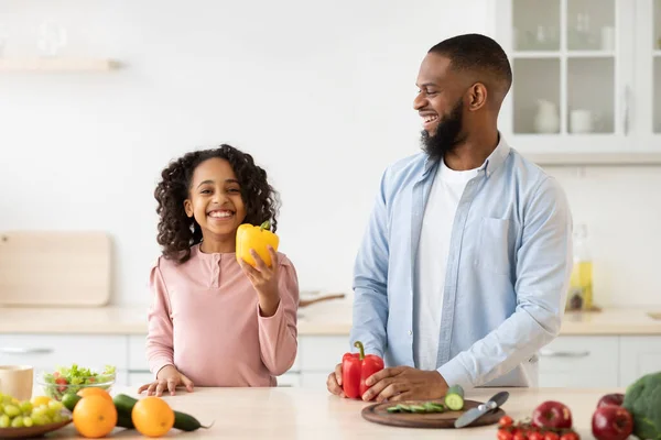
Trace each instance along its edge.
<instances>
[{"instance_id":1,"label":"girl's lowered arm in pink sleeve, at her left edge","mask_svg":"<svg viewBox=\"0 0 661 440\"><path fill-rule=\"evenodd\" d=\"M160 258L159 258L160 261ZM174 365L170 296L159 264L152 267L149 277L152 304L149 308L147 334L147 360L149 370L156 375L165 365Z\"/></svg>"}]
</instances>

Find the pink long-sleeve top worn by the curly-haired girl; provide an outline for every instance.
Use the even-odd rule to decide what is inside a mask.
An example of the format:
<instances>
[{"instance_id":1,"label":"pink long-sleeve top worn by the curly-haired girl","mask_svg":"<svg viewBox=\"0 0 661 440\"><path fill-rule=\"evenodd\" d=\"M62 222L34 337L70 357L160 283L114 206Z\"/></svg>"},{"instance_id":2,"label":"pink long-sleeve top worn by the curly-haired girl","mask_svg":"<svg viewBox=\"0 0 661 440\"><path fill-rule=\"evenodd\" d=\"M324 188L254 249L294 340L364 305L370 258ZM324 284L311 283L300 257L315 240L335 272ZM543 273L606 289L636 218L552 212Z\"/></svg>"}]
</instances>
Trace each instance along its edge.
<instances>
[{"instance_id":1,"label":"pink long-sleeve top worn by the curly-haired girl","mask_svg":"<svg viewBox=\"0 0 661 440\"><path fill-rule=\"evenodd\" d=\"M299 307L295 268L282 253L278 261L280 304L263 317L235 253L196 244L182 265L159 257L149 278L150 371L172 364L195 386L275 386L296 358Z\"/></svg>"}]
</instances>

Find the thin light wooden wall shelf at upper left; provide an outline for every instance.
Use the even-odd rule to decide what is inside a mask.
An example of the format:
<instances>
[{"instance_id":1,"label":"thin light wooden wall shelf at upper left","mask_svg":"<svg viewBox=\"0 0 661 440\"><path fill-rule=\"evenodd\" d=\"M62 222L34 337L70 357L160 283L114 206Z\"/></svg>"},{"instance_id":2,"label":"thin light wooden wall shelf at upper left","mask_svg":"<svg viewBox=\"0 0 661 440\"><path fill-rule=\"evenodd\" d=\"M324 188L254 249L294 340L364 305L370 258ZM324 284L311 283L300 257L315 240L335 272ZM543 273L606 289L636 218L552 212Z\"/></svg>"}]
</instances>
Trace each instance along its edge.
<instances>
[{"instance_id":1,"label":"thin light wooden wall shelf at upper left","mask_svg":"<svg viewBox=\"0 0 661 440\"><path fill-rule=\"evenodd\" d=\"M0 72L107 72L119 63L107 58L2 58Z\"/></svg>"}]
</instances>

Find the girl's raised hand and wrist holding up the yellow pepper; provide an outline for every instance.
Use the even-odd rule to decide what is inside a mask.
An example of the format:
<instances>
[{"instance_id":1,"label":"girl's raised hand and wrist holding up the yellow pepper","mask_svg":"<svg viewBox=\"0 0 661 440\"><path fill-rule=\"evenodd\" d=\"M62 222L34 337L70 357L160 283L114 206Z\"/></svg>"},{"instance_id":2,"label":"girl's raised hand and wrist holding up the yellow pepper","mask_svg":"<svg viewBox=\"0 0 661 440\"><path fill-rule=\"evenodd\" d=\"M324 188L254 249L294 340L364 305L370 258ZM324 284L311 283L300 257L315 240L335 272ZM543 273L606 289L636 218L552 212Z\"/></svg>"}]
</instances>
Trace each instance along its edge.
<instances>
[{"instance_id":1,"label":"girl's raised hand and wrist holding up the yellow pepper","mask_svg":"<svg viewBox=\"0 0 661 440\"><path fill-rule=\"evenodd\" d=\"M278 292L278 254L270 245L267 246L269 254L271 255L271 267L267 266L267 263L254 252L250 250L250 255L254 258L257 267L252 267L243 260L239 262L241 268L252 287L257 290L259 296L259 308L261 309L262 316L270 317L278 310L278 304L280 302L280 293Z\"/></svg>"}]
</instances>

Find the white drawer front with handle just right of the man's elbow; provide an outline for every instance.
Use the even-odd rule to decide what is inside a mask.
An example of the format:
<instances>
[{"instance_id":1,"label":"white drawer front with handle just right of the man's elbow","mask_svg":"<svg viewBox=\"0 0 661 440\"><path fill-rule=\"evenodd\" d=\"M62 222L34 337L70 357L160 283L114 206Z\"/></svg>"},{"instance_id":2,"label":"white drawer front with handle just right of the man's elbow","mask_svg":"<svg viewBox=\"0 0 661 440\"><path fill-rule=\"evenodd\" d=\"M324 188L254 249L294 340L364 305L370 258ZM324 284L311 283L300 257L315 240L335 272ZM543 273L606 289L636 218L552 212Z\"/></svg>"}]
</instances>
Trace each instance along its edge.
<instances>
[{"instance_id":1,"label":"white drawer front with handle just right of the man's elbow","mask_svg":"<svg viewBox=\"0 0 661 440\"><path fill-rule=\"evenodd\" d=\"M608 388L619 382L619 338L561 336L540 351L541 387Z\"/></svg>"}]
</instances>

